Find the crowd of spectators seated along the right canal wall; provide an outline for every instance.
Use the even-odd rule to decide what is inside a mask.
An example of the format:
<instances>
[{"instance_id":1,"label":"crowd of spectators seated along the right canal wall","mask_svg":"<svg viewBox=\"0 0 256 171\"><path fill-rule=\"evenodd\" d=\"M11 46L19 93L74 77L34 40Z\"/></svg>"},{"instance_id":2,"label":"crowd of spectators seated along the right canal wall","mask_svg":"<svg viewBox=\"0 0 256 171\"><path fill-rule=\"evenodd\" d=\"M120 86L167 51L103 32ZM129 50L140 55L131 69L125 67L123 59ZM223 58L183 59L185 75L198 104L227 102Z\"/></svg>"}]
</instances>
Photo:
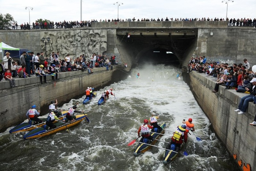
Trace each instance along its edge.
<instances>
[{"instance_id":1,"label":"crowd of spectators seated along the right canal wall","mask_svg":"<svg viewBox=\"0 0 256 171\"><path fill-rule=\"evenodd\" d=\"M247 110L249 102L256 104L256 78L247 59L244 59L242 64L220 64L219 62L206 62L207 59L203 57L192 57L188 65L188 73L198 71L205 73L208 76L216 77L213 93L218 92L219 86L225 86L226 90L234 88L237 92L247 93L241 98L238 109L235 110L238 114L244 114ZM255 119L250 125L256 126Z\"/></svg>"}]
</instances>

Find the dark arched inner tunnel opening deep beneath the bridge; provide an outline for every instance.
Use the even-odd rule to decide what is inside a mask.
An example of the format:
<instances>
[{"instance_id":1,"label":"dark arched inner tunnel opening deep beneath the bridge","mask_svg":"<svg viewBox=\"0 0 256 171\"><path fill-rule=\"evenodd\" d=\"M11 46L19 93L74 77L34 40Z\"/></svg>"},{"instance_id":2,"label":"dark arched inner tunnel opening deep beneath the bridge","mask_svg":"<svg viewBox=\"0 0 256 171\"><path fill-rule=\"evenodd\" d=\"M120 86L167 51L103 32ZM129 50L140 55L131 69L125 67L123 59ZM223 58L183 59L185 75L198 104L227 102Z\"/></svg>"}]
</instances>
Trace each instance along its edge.
<instances>
[{"instance_id":1,"label":"dark arched inner tunnel opening deep beneath the bridge","mask_svg":"<svg viewBox=\"0 0 256 171\"><path fill-rule=\"evenodd\" d=\"M164 64L164 65L174 65L179 66L180 61L176 57L176 55L166 49L163 48L154 48L150 49L143 54L140 54L138 56L138 65L144 65L144 64Z\"/></svg>"}]
</instances>

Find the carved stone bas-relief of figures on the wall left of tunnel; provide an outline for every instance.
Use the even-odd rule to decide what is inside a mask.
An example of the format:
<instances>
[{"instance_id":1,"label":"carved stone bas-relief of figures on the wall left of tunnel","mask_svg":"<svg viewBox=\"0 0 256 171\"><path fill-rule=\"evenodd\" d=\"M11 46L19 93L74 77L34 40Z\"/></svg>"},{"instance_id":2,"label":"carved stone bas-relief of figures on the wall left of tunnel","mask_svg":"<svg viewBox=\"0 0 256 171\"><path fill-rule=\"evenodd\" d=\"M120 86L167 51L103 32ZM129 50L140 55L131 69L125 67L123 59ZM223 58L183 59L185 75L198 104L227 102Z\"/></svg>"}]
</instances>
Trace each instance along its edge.
<instances>
[{"instance_id":1,"label":"carved stone bas-relief of figures on the wall left of tunnel","mask_svg":"<svg viewBox=\"0 0 256 171\"><path fill-rule=\"evenodd\" d=\"M50 38L46 43L47 56L52 52L60 52L60 57L67 54L70 57L79 57L85 54L91 57L92 53L102 54L107 49L107 30L63 30L41 32L41 37ZM45 51L45 44L41 41L42 50Z\"/></svg>"}]
</instances>

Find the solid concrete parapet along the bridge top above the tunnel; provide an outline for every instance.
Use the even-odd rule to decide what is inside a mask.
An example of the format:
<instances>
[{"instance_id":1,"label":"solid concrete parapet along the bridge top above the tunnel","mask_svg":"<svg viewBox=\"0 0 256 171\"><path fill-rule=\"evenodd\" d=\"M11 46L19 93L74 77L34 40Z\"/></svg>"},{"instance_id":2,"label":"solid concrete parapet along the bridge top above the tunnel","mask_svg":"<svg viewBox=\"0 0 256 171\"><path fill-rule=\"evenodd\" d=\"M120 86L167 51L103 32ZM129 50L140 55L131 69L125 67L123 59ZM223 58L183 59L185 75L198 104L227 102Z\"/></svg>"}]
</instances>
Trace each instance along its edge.
<instances>
[{"instance_id":1,"label":"solid concrete parapet along the bridge top above the tunnel","mask_svg":"<svg viewBox=\"0 0 256 171\"><path fill-rule=\"evenodd\" d=\"M94 22L91 27L227 27L228 21Z\"/></svg>"}]
</instances>

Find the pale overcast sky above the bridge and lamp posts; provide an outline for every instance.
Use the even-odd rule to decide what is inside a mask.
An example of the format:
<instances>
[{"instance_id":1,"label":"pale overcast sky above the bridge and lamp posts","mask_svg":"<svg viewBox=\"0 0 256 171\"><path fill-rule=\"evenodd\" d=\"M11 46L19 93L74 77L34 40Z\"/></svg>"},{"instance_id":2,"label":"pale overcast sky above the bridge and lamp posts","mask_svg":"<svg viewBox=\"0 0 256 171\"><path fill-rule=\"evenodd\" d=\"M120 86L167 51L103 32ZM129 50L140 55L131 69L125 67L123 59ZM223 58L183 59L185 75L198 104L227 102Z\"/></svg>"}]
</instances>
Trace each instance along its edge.
<instances>
[{"instance_id":1,"label":"pale overcast sky above the bridge and lamp posts","mask_svg":"<svg viewBox=\"0 0 256 171\"><path fill-rule=\"evenodd\" d=\"M228 3L227 17L256 18L256 0L234 0ZM80 21L80 0L0 0L0 13L11 14L18 23L37 19ZM115 19L118 5L114 0L82 0L82 20ZM227 4L222 0L121 0L119 18L226 18Z\"/></svg>"}]
</instances>

